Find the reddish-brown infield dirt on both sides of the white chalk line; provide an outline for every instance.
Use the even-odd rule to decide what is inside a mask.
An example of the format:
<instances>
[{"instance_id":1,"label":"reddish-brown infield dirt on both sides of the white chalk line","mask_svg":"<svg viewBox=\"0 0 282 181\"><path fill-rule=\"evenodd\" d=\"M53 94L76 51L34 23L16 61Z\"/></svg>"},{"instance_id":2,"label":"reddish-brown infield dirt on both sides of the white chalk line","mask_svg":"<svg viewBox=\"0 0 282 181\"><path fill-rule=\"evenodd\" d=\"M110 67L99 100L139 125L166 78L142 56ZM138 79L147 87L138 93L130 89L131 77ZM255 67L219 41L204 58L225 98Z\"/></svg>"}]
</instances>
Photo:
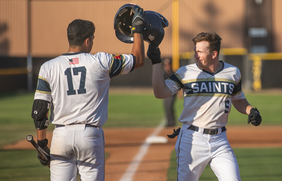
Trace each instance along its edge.
<instances>
[{"instance_id":1,"label":"reddish-brown infield dirt on both sides of the white chalk line","mask_svg":"<svg viewBox=\"0 0 282 181\"><path fill-rule=\"evenodd\" d=\"M105 152L110 156L106 160L106 180L119 180L128 165L138 153L140 146L155 128L105 128ZM171 134L173 128L164 128L159 135ZM282 147L282 126L227 126L228 140L236 147ZM52 132L47 139L51 141ZM34 135L36 140L36 135ZM151 144L147 154L140 162L133 181L165 181L169 167L170 153L174 149L176 138L166 144ZM50 145L50 144L49 144ZM6 145L3 149L34 149L26 140Z\"/></svg>"}]
</instances>

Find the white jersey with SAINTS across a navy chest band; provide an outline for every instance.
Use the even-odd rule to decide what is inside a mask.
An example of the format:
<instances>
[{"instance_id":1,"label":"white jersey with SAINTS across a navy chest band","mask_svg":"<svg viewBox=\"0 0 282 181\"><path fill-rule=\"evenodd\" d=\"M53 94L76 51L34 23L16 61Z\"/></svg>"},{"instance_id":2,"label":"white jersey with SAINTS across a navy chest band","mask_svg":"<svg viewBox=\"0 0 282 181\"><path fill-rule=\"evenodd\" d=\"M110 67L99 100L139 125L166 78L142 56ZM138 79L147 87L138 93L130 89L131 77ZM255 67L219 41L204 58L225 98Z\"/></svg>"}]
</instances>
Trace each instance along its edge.
<instances>
[{"instance_id":1,"label":"white jersey with SAINTS across a navy chest band","mask_svg":"<svg viewBox=\"0 0 282 181\"><path fill-rule=\"evenodd\" d=\"M197 64L192 64L179 68L165 80L172 95L181 88L184 89L184 108L179 122L206 129L226 125L231 100L244 99L245 95L239 69L230 64L222 64L222 68L215 75L198 68ZM207 80L207 77L210 78Z\"/></svg>"}]
</instances>

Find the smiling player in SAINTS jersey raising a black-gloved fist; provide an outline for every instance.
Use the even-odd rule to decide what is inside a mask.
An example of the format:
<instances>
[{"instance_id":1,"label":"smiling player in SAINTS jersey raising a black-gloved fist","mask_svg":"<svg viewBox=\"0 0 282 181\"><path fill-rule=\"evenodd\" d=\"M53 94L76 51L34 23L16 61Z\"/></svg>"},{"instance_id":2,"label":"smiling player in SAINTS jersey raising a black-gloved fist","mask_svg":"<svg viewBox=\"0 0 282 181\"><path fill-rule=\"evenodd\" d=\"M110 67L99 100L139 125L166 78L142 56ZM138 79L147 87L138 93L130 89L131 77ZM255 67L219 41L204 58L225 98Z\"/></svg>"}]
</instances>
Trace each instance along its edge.
<instances>
[{"instance_id":1,"label":"smiling player in SAINTS jersey raising a black-gloved fist","mask_svg":"<svg viewBox=\"0 0 282 181\"><path fill-rule=\"evenodd\" d=\"M207 164L218 180L237 181L239 167L227 140L226 123L231 104L249 115L248 123L261 123L261 116L244 96L238 68L218 60L221 37L200 33L192 39L196 64L179 68L163 80L160 68L160 49L149 45L148 57L153 63L153 88L157 98L165 98L183 89L184 108L179 117L182 128L168 135L177 141L177 181L199 180Z\"/></svg>"}]
</instances>

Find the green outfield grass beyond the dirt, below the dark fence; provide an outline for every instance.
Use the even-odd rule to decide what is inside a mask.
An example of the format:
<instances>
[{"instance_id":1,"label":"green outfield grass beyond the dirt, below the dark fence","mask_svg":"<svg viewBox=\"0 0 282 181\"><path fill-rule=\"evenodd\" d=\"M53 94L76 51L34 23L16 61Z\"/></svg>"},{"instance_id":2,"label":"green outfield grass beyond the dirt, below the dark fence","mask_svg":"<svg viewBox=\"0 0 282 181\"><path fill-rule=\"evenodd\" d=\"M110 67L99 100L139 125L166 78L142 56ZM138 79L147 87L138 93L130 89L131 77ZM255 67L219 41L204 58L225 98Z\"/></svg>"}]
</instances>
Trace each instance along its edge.
<instances>
[{"instance_id":1,"label":"green outfield grass beyond the dirt, below the dark fence","mask_svg":"<svg viewBox=\"0 0 282 181\"><path fill-rule=\"evenodd\" d=\"M249 102L260 111L263 122L261 125L282 125L282 95L247 94ZM29 134L36 134L31 108L34 94L0 94L0 148ZM109 95L108 121L104 127L148 127L157 126L163 119L161 99L153 94ZM176 100L176 118L183 110L183 99ZM228 125L247 125L247 115L231 109ZM179 126L181 123L177 122ZM54 125L50 124L48 131Z\"/></svg>"}]
</instances>

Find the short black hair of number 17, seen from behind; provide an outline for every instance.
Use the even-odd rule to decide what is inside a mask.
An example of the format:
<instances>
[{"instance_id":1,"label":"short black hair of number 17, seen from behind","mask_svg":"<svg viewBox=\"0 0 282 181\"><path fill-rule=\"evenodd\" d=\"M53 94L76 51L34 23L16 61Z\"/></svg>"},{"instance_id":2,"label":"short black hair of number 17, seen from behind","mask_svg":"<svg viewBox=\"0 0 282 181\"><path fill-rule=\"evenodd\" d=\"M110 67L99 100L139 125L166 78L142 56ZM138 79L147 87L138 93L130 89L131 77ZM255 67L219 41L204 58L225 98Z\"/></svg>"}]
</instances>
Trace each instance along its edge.
<instances>
[{"instance_id":1,"label":"short black hair of number 17, seen from behind","mask_svg":"<svg viewBox=\"0 0 282 181\"><path fill-rule=\"evenodd\" d=\"M69 46L82 46L85 39L91 38L95 32L95 25L91 21L75 19L67 27Z\"/></svg>"}]
</instances>

